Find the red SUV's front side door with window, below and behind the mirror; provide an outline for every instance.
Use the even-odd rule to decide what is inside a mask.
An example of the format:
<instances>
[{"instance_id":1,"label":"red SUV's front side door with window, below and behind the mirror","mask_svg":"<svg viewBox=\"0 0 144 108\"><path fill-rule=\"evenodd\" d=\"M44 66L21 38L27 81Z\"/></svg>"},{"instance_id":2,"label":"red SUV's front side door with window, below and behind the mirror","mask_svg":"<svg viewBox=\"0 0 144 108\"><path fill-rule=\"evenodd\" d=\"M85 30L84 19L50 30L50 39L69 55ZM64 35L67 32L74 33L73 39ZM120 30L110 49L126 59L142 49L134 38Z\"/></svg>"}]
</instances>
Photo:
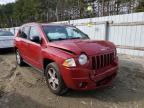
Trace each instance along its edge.
<instances>
[{"instance_id":1,"label":"red SUV's front side door with window, below and behind the mirror","mask_svg":"<svg viewBox=\"0 0 144 108\"><path fill-rule=\"evenodd\" d=\"M33 36L39 36L41 39L40 29L37 26L30 27L29 46L27 50L30 64L38 69L42 69L41 45L30 40Z\"/></svg>"}]
</instances>

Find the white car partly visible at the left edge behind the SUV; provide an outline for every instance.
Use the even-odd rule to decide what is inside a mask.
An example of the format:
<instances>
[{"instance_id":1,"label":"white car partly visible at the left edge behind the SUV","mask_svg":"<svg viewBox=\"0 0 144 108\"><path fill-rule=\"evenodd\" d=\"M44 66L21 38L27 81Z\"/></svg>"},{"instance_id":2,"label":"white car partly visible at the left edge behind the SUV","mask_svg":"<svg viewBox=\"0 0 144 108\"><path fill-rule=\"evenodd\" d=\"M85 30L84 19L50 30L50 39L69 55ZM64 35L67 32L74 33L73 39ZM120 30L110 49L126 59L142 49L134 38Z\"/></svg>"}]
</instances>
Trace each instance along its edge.
<instances>
[{"instance_id":1,"label":"white car partly visible at the left edge behind the SUV","mask_svg":"<svg viewBox=\"0 0 144 108\"><path fill-rule=\"evenodd\" d=\"M9 31L0 31L0 49L13 48L14 35Z\"/></svg>"}]
</instances>

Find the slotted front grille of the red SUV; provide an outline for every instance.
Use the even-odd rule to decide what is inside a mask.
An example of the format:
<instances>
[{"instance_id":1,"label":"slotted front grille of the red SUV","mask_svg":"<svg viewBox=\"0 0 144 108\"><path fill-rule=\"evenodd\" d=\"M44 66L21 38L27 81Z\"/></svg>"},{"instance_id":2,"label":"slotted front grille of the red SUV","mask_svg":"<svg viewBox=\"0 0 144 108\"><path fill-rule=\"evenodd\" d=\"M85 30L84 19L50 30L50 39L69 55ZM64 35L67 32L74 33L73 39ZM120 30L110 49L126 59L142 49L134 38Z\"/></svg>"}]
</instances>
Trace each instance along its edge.
<instances>
[{"instance_id":1,"label":"slotted front grille of the red SUV","mask_svg":"<svg viewBox=\"0 0 144 108\"><path fill-rule=\"evenodd\" d=\"M101 69L113 63L114 52L92 57L92 69Z\"/></svg>"}]
</instances>

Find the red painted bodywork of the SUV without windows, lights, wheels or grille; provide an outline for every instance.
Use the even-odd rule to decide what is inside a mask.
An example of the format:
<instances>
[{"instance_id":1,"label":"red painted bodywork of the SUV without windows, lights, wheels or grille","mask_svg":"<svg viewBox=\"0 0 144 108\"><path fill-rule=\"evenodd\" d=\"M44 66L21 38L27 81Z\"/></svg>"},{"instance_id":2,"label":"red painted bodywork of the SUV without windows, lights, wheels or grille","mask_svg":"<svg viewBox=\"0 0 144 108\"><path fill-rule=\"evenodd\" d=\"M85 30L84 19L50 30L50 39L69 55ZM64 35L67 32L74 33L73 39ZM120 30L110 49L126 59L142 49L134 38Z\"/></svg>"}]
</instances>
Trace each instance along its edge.
<instances>
[{"instance_id":1,"label":"red painted bodywork of the SUV without windows, lights, wheels or grille","mask_svg":"<svg viewBox=\"0 0 144 108\"><path fill-rule=\"evenodd\" d=\"M49 42L41 25L42 24L35 23L24 25L37 26L42 38L41 45L27 39L22 39L19 36L15 37L16 48L19 49L22 58L27 63L40 70L44 70L44 59L55 61L59 66L61 76L67 87L75 90L91 90L111 84L117 74L118 58L115 57L109 66L94 70L92 69L92 57L115 52L116 46L113 43L89 39ZM102 51L101 49L103 48L106 48L107 50ZM74 54L61 49L71 51ZM89 59L88 63L84 66L81 66L78 62L78 57L82 52L85 52ZM64 60L68 58L74 58L76 62L75 68L67 68L62 65ZM86 83L86 86L80 88L80 82Z\"/></svg>"}]
</instances>

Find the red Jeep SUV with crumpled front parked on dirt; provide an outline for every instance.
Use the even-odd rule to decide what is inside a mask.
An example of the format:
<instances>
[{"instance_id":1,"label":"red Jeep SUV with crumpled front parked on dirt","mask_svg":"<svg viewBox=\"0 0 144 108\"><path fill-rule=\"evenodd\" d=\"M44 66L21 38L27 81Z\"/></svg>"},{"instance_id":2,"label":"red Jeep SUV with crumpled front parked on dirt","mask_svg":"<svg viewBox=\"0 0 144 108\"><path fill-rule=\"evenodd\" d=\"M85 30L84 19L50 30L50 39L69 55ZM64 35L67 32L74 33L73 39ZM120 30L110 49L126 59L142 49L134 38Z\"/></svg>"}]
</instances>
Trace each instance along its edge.
<instances>
[{"instance_id":1,"label":"red Jeep SUV with crumpled front parked on dirt","mask_svg":"<svg viewBox=\"0 0 144 108\"><path fill-rule=\"evenodd\" d=\"M17 63L44 73L50 90L58 95L92 90L111 84L118 69L116 47L90 40L71 25L29 23L15 37Z\"/></svg>"}]
</instances>

